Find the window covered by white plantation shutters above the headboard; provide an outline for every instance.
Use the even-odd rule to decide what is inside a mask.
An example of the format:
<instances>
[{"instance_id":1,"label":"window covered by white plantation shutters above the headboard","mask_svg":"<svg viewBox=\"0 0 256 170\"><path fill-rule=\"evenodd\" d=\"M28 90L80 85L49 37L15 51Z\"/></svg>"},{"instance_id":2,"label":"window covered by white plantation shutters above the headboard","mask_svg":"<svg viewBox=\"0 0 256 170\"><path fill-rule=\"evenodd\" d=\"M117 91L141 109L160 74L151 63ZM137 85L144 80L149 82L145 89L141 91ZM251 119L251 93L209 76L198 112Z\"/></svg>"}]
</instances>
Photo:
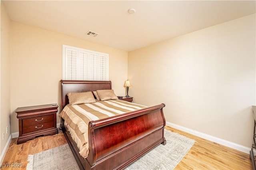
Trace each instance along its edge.
<instances>
[{"instance_id":1,"label":"window covered by white plantation shutters above the headboard","mask_svg":"<svg viewBox=\"0 0 256 170\"><path fill-rule=\"evenodd\" d=\"M108 80L108 54L62 45L63 80Z\"/></svg>"}]
</instances>

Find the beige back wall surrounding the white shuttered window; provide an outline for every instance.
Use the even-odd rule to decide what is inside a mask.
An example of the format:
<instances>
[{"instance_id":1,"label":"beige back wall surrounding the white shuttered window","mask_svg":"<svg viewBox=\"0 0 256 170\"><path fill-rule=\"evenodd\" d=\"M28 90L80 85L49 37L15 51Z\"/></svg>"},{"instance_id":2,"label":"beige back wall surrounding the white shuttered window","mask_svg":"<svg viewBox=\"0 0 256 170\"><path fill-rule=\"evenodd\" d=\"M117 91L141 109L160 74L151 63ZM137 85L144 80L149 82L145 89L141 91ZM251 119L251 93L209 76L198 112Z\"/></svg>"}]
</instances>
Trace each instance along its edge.
<instances>
[{"instance_id":1,"label":"beige back wall surrounding the white shuttered window","mask_svg":"<svg viewBox=\"0 0 256 170\"><path fill-rule=\"evenodd\" d=\"M11 125L18 132L17 107L60 103L62 44L109 54L109 80L125 95L128 52L11 22ZM58 122L58 121L57 121Z\"/></svg>"}]
</instances>

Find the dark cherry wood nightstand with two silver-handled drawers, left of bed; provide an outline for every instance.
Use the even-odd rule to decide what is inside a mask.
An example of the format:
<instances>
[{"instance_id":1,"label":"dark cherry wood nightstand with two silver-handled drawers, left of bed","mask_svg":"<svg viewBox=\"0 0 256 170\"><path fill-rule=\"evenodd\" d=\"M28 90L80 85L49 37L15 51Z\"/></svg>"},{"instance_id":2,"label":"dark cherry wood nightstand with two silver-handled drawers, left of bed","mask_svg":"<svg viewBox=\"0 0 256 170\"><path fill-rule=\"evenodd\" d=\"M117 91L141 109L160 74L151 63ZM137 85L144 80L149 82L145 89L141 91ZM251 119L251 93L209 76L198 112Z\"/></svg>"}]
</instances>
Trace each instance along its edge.
<instances>
[{"instance_id":1,"label":"dark cherry wood nightstand with two silver-handled drawers, left of bed","mask_svg":"<svg viewBox=\"0 0 256 170\"><path fill-rule=\"evenodd\" d=\"M56 113L58 105L38 105L19 107L15 111L19 119L19 137L17 144L26 142L36 136L58 133Z\"/></svg>"}]
</instances>

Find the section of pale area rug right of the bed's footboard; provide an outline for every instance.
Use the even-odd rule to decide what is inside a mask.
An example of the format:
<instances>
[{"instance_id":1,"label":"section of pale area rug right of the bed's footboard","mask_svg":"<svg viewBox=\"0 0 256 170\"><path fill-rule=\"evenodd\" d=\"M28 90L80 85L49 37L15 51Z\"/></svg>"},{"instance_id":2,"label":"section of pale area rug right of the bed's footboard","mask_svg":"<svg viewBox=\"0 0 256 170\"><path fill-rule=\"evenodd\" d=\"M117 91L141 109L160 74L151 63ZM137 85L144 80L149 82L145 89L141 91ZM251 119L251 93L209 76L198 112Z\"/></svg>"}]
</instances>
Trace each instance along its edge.
<instances>
[{"instance_id":1,"label":"section of pale area rug right of the bed's footboard","mask_svg":"<svg viewBox=\"0 0 256 170\"><path fill-rule=\"evenodd\" d=\"M156 146L125 170L172 170L195 143L195 140L170 130L164 130L164 137L166 145Z\"/></svg>"}]
</instances>

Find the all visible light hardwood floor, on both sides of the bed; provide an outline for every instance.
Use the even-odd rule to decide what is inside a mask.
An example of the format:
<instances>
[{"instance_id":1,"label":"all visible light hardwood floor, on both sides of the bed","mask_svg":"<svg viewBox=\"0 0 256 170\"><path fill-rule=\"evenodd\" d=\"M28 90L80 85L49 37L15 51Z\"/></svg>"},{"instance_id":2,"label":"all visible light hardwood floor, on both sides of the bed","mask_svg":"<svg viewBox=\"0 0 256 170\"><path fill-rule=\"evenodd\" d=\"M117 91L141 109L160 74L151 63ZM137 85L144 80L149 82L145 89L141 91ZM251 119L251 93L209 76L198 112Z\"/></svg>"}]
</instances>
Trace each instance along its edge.
<instances>
[{"instance_id":1,"label":"all visible light hardwood floor, on both sides of the bed","mask_svg":"<svg viewBox=\"0 0 256 170\"><path fill-rule=\"evenodd\" d=\"M175 167L175 170L250 170L252 168L249 154L175 128L166 127L166 129L196 140L186 156ZM10 163L11 167L2 167L1 170L26 170L29 154L36 154L67 143L61 132L53 136L41 136L19 145L16 142L17 138L12 139L2 163L2 165ZM22 164L22 167L12 167L12 163Z\"/></svg>"}]
</instances>

